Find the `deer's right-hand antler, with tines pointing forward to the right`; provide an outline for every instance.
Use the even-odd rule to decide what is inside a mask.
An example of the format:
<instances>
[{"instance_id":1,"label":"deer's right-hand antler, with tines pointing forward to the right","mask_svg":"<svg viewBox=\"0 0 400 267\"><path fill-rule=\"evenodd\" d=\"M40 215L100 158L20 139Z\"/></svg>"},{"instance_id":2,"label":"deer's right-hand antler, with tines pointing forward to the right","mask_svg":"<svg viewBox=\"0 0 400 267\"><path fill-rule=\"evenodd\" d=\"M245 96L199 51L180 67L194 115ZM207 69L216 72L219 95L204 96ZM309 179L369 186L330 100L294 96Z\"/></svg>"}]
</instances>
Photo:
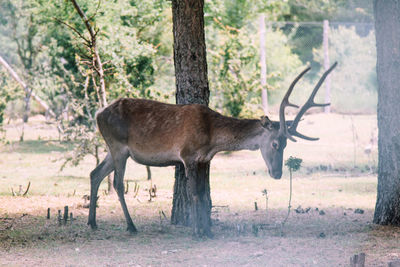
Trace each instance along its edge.
<instances>
[{"instance_id":1,"label":"deer's right-hand antler, with tines pointing forward to the right","mask_svg":"<svg viewBox=\"0 0 400 267\"><path fill-rule=\"evenodd\" d=\"M297 126L299 124L299 121L301 117L306 113L306 111L312 107L325 107L329 106L330 103L325 103L325 104L317 104L314 102L315 95L318 93L319 88L321 85L324 83L326 77L328 77L329 73L337 66L337 62L335 62L327 71L324 72L322 77L319 79L318 83L315 85L314 90L312 91L310 97L307 99L306 103L301 107L299 113L297 113L296 117L293 120L292 125L290 125L288 132L291 135L310 140L310 141L315 141L318 140L319 138L314 138L314 137L308 137L303 134L300 134L297 132Z\"/></svg>"}]
</instances>

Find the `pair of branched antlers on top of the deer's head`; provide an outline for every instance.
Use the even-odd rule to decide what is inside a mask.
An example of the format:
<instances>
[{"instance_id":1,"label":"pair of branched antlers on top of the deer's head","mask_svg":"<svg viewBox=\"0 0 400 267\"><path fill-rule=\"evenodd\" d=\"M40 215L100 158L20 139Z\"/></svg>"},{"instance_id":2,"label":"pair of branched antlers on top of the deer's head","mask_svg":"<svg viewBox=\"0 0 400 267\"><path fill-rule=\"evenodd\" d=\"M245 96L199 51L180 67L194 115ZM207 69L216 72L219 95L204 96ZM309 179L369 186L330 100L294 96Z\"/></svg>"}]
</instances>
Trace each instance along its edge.
<instances>
[{"instance_id":1,"label":"pair of branched antlers on top of the deer's head","mask_svg":"<svg viewBox=\"0 0 400 267\"><path fill-rule=\"evenodd\" d=\"M292 140L293 142L296 142L296 139L293 138L293 136L297 136L300 137L302 139L306 139L306 140L310 140L310 141L316 141L319 138L314 138L314 137L308 137L305 136L299 132L297 132L297 126L299 124L299 121L301 119L301 117L306 113L306 111L312 107L325 107L330 105L330 103L326 103L326 104L317 104L314 102L314 98L315 95L317 94L319 88L321 87L321 85L324 83L326 77L329 75L329 73L336 67L337 62L335 62L327 71L325 71L325 73L322 75L321 79L318 81L317 85L315 86L314 90L312 91L310 97L307 99L306 103L301 107L299 113L297 113L295 119L293 120L292 124L290 125L289 129L287 128L286 125L286 121L285 121L285 107L287 106L291 106L291 107L298 107L294 104L291 104L289 102L289 96L293 91L293 88L295 86L295 84L301 79L301 77L303 77L303 75L310 70L310 68L308 67L307 69L305 69L302 73L300 73L296 79L294 79L294 81L292 82L292 84L290 85L288 91L286 92L280 109L279 109L279 123L280 123L280 128L279 128L279 134L280 135L284 135L286 136L288 139Z\"/></svg>"}]
</instances>

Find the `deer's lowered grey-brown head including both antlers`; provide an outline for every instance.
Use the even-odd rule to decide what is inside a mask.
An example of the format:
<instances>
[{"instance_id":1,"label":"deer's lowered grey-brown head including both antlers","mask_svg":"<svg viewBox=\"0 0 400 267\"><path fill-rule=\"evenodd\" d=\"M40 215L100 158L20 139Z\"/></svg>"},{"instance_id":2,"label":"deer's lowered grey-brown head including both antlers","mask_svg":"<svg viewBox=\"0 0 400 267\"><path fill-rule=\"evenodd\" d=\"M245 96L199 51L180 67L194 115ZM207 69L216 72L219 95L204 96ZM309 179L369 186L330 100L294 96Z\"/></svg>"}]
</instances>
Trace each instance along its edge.
<instances>
[{"instance_id":1,"label":"deer's lowered grey-brown head including both antlers","mask_svg":"<svg viewBox=\"0 0 400 267\"><path fill-rule=\"evenodd\" d=\"M318 83L316 84L314 90L309 96L306 103L301 107L299 112L293 121L286 121L285 119L285 108L286 107L295 107L299 108L297 105L290 103L289 97L293 91L296 83L301 79L301 77L306 74L310 68L306 68L303 72L301 72L296 79L293 80L289 89L287 90L285 96L282 99L280 108L279 108L279 122L271 121L268 117L261 118L261 125L267 130L268 134L265 134L263 142L260 144L261 154L265 163L268 166L269 175L275 179L280 179L282 176L282 165L283 165L283 151L287 144L287 139L296 142L294 136L309 140L316 141L319 138L308 137L299 132L297 132L297 126L299 124L300 119L306 113L306 111L312 107L325 107L330 105L330 103L326 104L317 104L314 102L315 95L317 94L319 88L323 84L324 80L328 76L328 74L336 67L337 62L335 62L320 78Z\"/></svg>"}]
</instances>

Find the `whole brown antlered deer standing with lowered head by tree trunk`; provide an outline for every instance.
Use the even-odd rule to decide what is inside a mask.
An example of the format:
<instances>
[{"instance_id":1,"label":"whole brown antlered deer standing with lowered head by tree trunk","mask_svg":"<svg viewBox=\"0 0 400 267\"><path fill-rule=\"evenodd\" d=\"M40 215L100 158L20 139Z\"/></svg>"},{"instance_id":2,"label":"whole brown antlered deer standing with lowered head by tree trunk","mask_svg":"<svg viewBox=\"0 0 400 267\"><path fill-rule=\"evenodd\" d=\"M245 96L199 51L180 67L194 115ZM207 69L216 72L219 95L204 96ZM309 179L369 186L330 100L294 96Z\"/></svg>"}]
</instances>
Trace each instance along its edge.
<instances>
[{"instance_id":1,"label":"whole brown antlered deer standing with lowered head by tree trunk","mask_svg":"<svg viewBox=\"0 0 400 267\"><path fill-rule=\"evenodd\" d=\"M293 121L286 121L285 108L292 104L289 97L296 83L310 70L302 71L291 83L279 108L279 121L267 116L261 119L238 119L224 116L205 105L174 105L153 100L120 98L96 114L98 130L108 147L105 159L90 173L90 205L88 225L97 229L96 201L101 181L114 171L114 187L126 219L127 230L137 229L129 214L124 197L124 173L127 159L147 166L173 166L183 164L188 179L192 231L194 235L212 236L207 216L204 181L199 174L200 166L209 163L221 151L260 150L272 178L282 176L283 152L287 139L294 137L316 141L319 138L305 136L297 126L312 107L329 105L314 102L315 95L333 64L320 78L311 95ZM204 165L203 165L204 166Z\"/></svg>"}]
</instances>

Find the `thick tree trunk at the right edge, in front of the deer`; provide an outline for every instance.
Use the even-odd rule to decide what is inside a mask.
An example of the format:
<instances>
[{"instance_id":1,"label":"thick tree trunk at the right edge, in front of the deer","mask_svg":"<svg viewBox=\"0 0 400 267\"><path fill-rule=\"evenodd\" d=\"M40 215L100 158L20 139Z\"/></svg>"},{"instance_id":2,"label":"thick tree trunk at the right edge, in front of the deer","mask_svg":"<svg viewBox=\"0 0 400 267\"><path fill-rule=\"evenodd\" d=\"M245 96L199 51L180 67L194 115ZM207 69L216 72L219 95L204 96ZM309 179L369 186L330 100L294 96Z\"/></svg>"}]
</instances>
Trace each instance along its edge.
<instances>
[{"instance_id":1,"label":"thick tree trunk at the right edge, in front of the deer","mask_svg":"<svg viewBox=\"0 0 400 267\"><path fill-rule=\"evenodd\" d=\"M379 165L374 223L400 225L400 1L374 0Z\"/></svg>"}]
</instances>

